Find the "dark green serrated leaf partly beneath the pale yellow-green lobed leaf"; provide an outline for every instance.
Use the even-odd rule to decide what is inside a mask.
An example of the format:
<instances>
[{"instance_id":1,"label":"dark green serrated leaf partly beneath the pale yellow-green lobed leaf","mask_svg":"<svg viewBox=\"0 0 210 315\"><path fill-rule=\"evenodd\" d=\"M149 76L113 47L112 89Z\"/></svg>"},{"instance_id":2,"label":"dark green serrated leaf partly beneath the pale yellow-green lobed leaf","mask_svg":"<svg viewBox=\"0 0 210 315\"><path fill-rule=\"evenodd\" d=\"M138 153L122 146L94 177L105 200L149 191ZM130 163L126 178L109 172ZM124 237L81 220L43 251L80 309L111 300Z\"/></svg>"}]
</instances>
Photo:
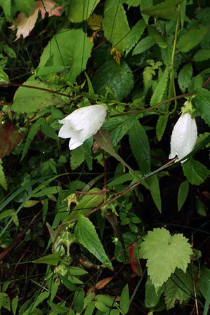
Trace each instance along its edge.
<instances>
[{"instance_id":1,"label":"dark green serrated leaf partly beneath the pale yellow-green lobed leaf","mask_svg":"<svg viewBox=\"0 0 210 315\"><path fill-rule=\"evenodd\" d=\"M172 309L176 300L186 302L190 295L194 292L192 274L188 271L183 272L181 269L176 269L174 274L171 274L170 279L166 282L164 290L166 308Z\"/></svg>"}]
</instances>

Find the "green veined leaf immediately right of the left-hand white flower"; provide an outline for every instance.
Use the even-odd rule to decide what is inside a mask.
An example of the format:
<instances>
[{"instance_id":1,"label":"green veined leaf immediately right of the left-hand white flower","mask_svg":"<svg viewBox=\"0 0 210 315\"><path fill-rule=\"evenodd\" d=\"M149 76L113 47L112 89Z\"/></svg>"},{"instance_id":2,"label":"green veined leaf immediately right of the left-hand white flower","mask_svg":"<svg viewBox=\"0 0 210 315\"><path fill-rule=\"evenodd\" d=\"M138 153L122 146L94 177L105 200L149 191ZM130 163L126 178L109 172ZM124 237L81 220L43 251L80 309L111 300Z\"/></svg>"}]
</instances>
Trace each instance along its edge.
<instances>
[{"instance_id":1,"label":"green veined leaf immediately right of the left-hand white flower","mask_svg":"<svg viewBox=\"0 0 210 315\"><path fill-rule=\"evenodd\" d=\"M110 135L112 145L115 147L119 140L132 128L135 123L136 117L133 115L114 117L109 119L103 129L107 130Z\"/></svg>"}]
</instances>

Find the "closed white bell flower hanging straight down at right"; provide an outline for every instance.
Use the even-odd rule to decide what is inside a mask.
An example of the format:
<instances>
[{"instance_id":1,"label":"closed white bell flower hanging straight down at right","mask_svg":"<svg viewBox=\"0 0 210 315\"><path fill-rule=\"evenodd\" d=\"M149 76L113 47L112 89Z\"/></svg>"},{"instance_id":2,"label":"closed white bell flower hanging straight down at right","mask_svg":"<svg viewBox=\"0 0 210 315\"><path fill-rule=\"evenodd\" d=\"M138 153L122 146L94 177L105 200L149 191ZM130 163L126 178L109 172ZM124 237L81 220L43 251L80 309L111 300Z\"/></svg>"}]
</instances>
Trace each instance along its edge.
<instances>
[{"instance_id":1,"label":"closed white bell flower hanging straight down at right","mask_svg":"<svg viewBox=\"0 0 210 315\"><path fill-rule=\"evenodd\" d=\"M189 112L185 112L173 127L169 159L173 159L175 156L178 156L176 162L183 159L195 147L196 140L197 125L195 118L192 118ZM181 161L181 163L184 163L186 160Z\"/></svg>"}]
</instances>

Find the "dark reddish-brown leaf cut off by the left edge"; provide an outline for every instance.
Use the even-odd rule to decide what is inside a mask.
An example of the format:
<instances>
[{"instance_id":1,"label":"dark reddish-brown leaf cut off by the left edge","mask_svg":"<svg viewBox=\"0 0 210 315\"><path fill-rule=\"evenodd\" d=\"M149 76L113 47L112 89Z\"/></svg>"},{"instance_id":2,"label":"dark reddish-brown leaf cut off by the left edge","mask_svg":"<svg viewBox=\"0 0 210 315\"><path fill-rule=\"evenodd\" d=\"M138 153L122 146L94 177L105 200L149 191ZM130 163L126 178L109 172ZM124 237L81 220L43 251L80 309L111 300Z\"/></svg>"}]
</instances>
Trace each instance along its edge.
<instances>
[{"instance_id":1,"label":"dark reddish-brown leaf cut off by the left edge","mask_svg":"<svg viewBox=\"0 0 210 315\"><path fill-rule=\"evenodd\" d=\"M8 123L6 126L0 125L0 159L3 159L10 153L22 139L22 135L13 130L13 124Z\"/></svg>"}]
</instances>

